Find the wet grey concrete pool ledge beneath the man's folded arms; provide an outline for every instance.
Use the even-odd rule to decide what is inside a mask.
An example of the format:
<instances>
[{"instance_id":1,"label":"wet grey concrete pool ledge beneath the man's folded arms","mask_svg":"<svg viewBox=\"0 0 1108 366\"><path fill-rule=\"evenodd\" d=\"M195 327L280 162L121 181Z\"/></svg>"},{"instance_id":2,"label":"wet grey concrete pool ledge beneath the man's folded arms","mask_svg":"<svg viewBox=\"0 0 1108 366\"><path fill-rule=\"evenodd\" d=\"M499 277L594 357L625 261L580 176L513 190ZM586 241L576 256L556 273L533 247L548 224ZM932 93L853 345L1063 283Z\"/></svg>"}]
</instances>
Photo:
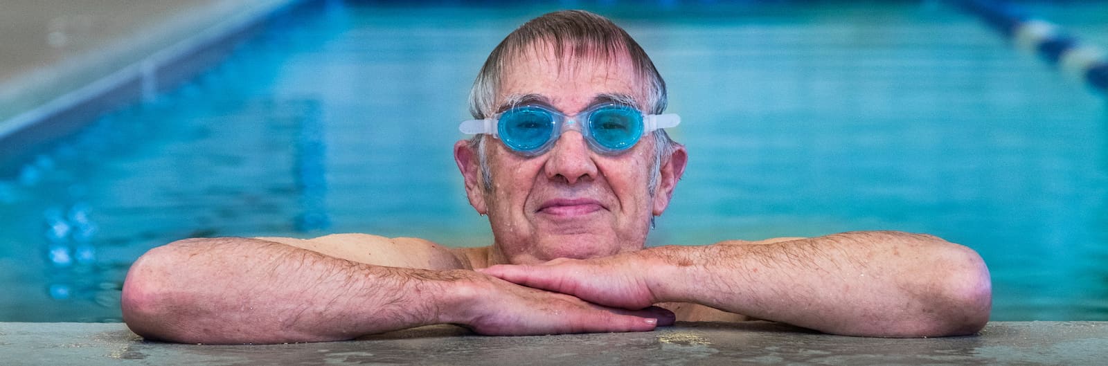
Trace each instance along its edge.
<instances>
[{"instance_id":1,"label":"wet grey concrete pool ledge beneath the man's folded arms","mask_svg":"<svg viewBox=\"0 0 1108 366\"><path fill-rule=\"evenodd\" d=\"M1108 322L993 322L981 334L863 338L768 322L490 337L452 326L281 345L145 342L122 323L0 323L4 365L1104 365Z\"/></svg>"}]
</instances>

